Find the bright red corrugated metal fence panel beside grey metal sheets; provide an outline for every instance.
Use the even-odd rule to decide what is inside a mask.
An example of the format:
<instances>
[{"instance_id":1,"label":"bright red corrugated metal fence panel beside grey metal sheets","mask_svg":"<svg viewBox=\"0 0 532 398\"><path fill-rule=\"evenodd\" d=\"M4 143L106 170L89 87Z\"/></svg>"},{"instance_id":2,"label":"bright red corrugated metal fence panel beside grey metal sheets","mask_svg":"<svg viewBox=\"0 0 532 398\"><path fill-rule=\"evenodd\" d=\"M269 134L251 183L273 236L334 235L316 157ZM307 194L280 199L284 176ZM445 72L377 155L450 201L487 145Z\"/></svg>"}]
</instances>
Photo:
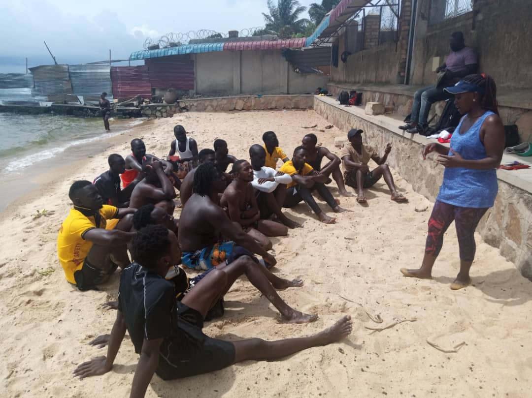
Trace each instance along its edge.
<instances>
[{"instance_id":1,"label":"bright red corrugated metal fence panel beside grey metal sheets","mask_svg":"<svg viewBox=\"0 0 532 398\"><path fill-rule=\"evenodd\" d=\"M145 65L112 66L111 82L113 98L131 98L138 94L143 98L152 98L148 67Z\"/></svg>"}]
</instances>

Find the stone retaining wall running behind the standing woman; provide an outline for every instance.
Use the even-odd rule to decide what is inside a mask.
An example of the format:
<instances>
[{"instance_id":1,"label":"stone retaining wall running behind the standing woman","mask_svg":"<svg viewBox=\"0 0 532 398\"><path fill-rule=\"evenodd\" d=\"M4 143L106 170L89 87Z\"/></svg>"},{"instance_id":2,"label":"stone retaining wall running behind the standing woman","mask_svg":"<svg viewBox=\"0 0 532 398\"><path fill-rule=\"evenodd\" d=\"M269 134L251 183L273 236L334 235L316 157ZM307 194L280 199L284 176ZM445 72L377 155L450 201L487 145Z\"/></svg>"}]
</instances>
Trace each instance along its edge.
<instances>
[{"instance_id":1,"label":"stone retaining wall running behind the standing woman","mask_svg":"<svg viewBox=\"0 0 532 398\"><path fill-rule=\"evenodd\" d=\"M364 130L364 140L383 149L391 142L394 150L388 163L410 184L414 191L431 201L436 199L443 180L443 167L433 157L423 161L420 154L422 143L403 137L392 129L395 120L384 116L357 116L353 112L314 98L314 110L326 120L347 132L352 128ZM370 119L370 120L367 120ZM385 119L388 119L384 121ZM388 125L388 128L386 126ZM384 125L384 126L383 126ZM495 206L488 210L480 222L477 232L501 254L516 264L521 274L532 280L532 195L513 185L499 180L499 191Z\"/></svg>"}]
</instances>

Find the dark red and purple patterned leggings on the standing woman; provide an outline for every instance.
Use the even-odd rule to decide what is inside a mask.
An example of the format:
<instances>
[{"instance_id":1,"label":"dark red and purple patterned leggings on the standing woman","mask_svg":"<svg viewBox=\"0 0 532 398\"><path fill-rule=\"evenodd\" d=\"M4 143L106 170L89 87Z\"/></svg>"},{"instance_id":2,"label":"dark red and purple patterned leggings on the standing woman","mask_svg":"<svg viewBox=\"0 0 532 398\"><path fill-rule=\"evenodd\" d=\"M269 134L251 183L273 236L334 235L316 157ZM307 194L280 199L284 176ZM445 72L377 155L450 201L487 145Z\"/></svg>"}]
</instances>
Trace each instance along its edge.
<instances>
[{"instance_id":1,"label":"dark red and purple patterned leggings on the standing woman","mask_svg":"<svg viewBox=\"0 0 532 398\"><path fill-rule=\"evenodd\" d=\"M429 231L425 253L437 257L443 246L443 235L454 221L460 247L460 260L473 261L477 245L475 230L488 208L472 208L449 205L436 200L429 218Z\"/></svg>"}]
</instances>

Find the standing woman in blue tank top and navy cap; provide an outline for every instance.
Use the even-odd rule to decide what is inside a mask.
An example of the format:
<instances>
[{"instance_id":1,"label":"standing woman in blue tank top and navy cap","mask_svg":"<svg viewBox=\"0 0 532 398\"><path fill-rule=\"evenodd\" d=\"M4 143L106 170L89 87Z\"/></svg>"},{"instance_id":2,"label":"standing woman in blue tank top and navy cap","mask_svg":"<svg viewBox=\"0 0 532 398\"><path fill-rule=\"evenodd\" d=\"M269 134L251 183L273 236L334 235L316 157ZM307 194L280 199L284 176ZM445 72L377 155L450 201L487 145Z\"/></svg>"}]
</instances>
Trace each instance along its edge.
<instances>
[{"instance_id":1,"label":"standing woman in blue tank top and navy cap","mask_svg":"<svg viewBox=\"0 0 532 398\"><path fill-rule=\"evenodd\" d=\"M497 175L504 150L504 126L498 116L495 82L486 74L471 74L453 87L454 104L465 115L451 138L448 150L439 143L423 148L423 159L436 151L445 166L433 212L421 268L401 268L404 276L428 279L443 245L443 235L454 221L460 248L460 272L451 284L459 290L471 283L469 269L475 258L475 229L497 196Z\"/></svg>"}]
</instances>

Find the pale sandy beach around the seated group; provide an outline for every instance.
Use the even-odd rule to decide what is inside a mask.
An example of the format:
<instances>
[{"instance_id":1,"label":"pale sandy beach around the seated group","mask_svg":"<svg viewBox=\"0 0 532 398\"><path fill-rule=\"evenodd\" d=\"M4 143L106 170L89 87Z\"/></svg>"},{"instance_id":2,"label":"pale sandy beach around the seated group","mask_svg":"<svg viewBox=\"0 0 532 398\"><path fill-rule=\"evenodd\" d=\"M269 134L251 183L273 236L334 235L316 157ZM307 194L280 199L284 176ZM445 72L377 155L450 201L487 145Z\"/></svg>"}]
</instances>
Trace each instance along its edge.
<instances>
[{"instance_id":1,"label":"pale sandy beach around the seated group","mask_svg":"<svg viewBox=\"0 0 532 398\"><path fill-rule=\"evenodd\" d=\"M100 308L116 298L119 274L101 291L78 292L66 282L56 254L61 222L71 207L68 188L74 180L92 181L107 170L107 156L130 153L129 141L142 138L148 153L163 157L182 124L199 148L226 139L229 153L248 159L253 143L273 130L291 157L304 134L317 134L334 153L336 137L346 132L313 111L184 113L147 121L108 140L94 157L54 169L46 184L0 214L0 328L6 332L0 353L0 380L8 397L129 396L138 355L124 340L113 370L104 376L74 379L78 363L98 355L87 343L110 333L115 312ZM303 126L317 124L317 128ZM356 127L356 126L353 126ZM112 128L112 125L111 125ZM384 148L378 148L383 153ZM392 150L390 156L400 156ZM373 167L375 165L372 165ZM205 333L228 340L273 340L304 336L330 326L343 315L353 317L346 340L273 362L246 361L212 374L164 382L154 376L146 396L170 397L529 397L532 380L532 291L511 262L477 236L473 285L449 289L459 267L452 226L434 268L434 280L404 278L401 267L418 267L432 204L393 175L408 204L396 204L384 181L366 193L367 207L342 198L351 213L337 223L317 221L302 203L286 213L304 228L272 238L283 277L301 277L300 289L280 293L294 308L319 314L307 325L279 323L277 311L245 280L226 295L226 314L206 323ZM338 197L335 183L329 185ZM426 201L427 211L416 205ZM319 201L327 211L326 204ZM35 218L37 210L46 216ZM328 211L328 214L334 216ZM176 217L179 209L176 209ZM383 323L368 314L380 315ZM404 322L377 332L382 327ZM458 352L444 353L464 342ZM528 387L527 387L528 386Z\"/></svg>"}]
</instances>

